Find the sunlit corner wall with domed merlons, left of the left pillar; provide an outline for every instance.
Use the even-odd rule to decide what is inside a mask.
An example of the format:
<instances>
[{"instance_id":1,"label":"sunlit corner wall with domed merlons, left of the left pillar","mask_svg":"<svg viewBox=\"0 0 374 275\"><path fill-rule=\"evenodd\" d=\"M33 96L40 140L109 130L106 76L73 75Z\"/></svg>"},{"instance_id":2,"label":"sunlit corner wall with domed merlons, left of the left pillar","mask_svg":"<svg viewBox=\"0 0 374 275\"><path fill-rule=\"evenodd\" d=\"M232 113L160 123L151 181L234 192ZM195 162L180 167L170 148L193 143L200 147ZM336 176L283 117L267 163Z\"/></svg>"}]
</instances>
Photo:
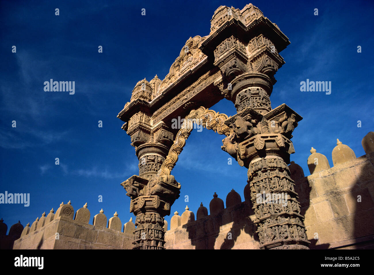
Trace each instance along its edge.
<instances>
[{"instance_id":1,"label":"sunlit corner wall with domed merlons, left of the left pillar","mask_svg":"<svg viewBox=\"0 0 374 275\"><path fill-rule=\"evenodd\" d=\"M87 205L77 211L74 219L70 204L61 204L56 215L52 211L47 217L43 213L31 227L28 224L14 241L13 249L131 249L133 246L135 225L130 220L121 232L117 213L107 221L101 210L90 225Z\"/></svg>"}]
</instances>

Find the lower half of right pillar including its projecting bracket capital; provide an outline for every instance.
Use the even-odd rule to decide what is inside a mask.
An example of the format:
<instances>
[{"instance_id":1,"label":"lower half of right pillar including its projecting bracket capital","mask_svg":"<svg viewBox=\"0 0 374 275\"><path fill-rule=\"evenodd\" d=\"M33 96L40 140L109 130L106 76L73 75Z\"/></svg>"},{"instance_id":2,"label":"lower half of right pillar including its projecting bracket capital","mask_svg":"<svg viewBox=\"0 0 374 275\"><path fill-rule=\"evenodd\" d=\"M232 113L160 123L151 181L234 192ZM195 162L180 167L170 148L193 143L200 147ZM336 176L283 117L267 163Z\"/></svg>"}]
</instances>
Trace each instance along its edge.
<instances>
[{"instance_id":1,"label":"lower half of right pillar including its projecting bracket capital","mask_svg":"<svg viewBox=\"0 0 374 275\"><path fill-rule=\"evenodd\" d=\"M248 168L254 223L263 249L308 248L304 217L287 166L294 152L291 133L300 120L282 104L265 115L246 108L225 122L233 132L223 140L222 149Z\"/></svg>"}]
</instances>

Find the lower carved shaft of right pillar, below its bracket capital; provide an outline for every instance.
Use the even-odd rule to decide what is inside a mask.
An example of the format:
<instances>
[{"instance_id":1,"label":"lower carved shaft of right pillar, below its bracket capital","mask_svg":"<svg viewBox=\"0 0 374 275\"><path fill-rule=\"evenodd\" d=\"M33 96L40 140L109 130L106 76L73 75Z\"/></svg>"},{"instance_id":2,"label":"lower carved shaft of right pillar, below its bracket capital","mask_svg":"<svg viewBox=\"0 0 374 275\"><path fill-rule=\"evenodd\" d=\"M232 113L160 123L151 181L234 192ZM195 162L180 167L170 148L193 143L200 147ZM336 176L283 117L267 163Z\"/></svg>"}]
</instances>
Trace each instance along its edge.
<instances>
[{"instance_id":1,"label":"lower carved shaft of right pillar, below its bracket capital","mask_svg":"<svg viewBox=\"0 0 374 275\"><path fill-rule=\"evenodd\" d=\"M264 139L264 135L257 136ZM254 143L257 136L254 136ZM267 140L272 140L272 137L267 137ZM285 147L269 142L264 155L254 154L250 160L248 183L260 248L308 249L310 242L304 229L304 217L300 214L295 183L283 158L289 159Z\"/></svg>"}]
</instances>

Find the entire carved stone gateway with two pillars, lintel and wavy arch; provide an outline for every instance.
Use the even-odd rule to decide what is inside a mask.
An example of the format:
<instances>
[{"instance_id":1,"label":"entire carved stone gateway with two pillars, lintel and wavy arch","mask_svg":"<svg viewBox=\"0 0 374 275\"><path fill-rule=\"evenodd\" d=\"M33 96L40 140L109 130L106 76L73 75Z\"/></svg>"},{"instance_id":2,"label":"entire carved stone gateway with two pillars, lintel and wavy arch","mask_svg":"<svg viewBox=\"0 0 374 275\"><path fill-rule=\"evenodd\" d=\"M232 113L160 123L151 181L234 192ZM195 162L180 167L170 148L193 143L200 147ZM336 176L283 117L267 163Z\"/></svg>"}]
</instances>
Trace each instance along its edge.
<instances>
[{"instance_id":1,"label":"entire carved stone gateway with two pillars, lintel and wavy arch","mask_svg":"<svg viewBox=\"0 0 374 275\"><path fill-rule=\"evenodd\" d=\"M122 183L137 216L135 248L164 247L164 219L179 197L171 175L191 125L173 129L173 118L191 118L221 135L222 149L248 168L261 248L307 248L294 182L289 176L292 131L302 118L287 105L272 109L274 75L289 44L278 26L252 4L220 6L205 37L190 37L164 80L141 80L118 114L139 159L139 176ZM233 117L209 110L226 98ZM286 192L284 206L258 203L257 194Z\"/></svg>"}]
</instances>

